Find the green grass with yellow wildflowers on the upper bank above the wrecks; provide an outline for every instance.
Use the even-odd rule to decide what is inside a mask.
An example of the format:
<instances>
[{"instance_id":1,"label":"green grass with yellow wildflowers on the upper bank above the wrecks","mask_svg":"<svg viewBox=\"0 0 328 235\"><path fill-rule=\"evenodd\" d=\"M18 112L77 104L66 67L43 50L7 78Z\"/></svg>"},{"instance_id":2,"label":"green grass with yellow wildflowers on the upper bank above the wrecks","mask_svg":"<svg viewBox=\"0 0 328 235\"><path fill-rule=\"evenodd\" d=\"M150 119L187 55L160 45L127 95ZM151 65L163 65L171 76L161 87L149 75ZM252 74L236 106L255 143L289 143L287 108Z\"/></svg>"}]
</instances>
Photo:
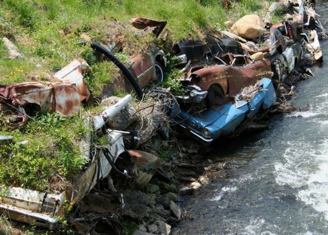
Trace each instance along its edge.
<instances>
[{"instance_id":1,"label":"green grass with yellow wildflowers on the upper bank above the wrecks","mask_svg":"<svg viewBox=\"0 0 328 235\"><path fill-rule=\"evenodd\" d=\"M233 2L230 12L236 18L258 10L260 3ZM86 49L77 45L83 34L108 44L121 32L127 55L142 51L148 44L158 44L152 34L141 37L129 27L112 30L113 19L128 25L138 16L166 20L169 42L203 37L205 31L223 27L223 22L230 19L217 0L3 0L0 15L0 36L9 37L26 55L20 60L6 59L7 51L0 41L0 84L31 80L31 76L12 77L15 68L21 68L23 75L52 74L70 61L85 57ZM104 79L101 72L92 76L89 84L96 94L104 83L112 81Z\"/></svg>"}]
</instances>

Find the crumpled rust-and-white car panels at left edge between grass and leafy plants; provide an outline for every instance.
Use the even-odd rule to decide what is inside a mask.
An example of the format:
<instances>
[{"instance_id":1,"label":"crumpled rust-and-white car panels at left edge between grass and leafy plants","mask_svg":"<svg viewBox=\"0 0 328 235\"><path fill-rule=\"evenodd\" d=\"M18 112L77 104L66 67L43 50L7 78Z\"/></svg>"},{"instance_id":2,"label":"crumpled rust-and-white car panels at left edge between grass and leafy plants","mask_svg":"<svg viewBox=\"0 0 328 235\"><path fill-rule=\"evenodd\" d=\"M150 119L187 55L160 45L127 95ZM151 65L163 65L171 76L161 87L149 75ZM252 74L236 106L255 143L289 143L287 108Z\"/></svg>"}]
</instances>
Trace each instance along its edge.
<instances>
[{"instance_id":1,"label":"crumpled rust-and-white car panels at left edge between grass and leafy plants","mask_svg":"<svg viewBox=\"0 0 328 235\"><path fill-rule=\"evenodd\" d=\"M14 113L8 125L16 128L27 122L24 108L37 105L42 112L58 112L72 115L80 109L82 101L90 97L83 81L82 64L73 61L71 64L54 74L62 82L42 84L40 82L21 82L0 85L0 111ZM9 105L16 107L10 107ZM17 110L19 109L19 111Z\"/></svg>"}]
</instances>

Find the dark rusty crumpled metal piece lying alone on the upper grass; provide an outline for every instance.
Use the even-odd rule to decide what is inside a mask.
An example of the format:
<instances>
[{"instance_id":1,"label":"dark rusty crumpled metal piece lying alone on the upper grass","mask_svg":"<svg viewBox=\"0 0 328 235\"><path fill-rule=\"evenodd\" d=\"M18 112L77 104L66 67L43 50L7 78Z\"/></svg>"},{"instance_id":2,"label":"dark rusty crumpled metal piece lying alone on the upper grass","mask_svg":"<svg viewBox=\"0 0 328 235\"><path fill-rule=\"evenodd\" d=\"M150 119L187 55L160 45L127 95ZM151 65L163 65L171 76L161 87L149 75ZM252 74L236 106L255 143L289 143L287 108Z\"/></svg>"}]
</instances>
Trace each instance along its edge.
<instances>
[{"instance_id":1,"label":"dark rusty crumpled metal piece lying alone on the upper grass","mask_svg":"<svg viewBox=\"0 0 328 235\"><path fill-rule=\"evenodd\" d=\"M152 31L156 37L158 37L163 31L167 21L155 21L146 18L134 18L132 20L132 25L144 32Z\"/></svg>"}]
</instances>

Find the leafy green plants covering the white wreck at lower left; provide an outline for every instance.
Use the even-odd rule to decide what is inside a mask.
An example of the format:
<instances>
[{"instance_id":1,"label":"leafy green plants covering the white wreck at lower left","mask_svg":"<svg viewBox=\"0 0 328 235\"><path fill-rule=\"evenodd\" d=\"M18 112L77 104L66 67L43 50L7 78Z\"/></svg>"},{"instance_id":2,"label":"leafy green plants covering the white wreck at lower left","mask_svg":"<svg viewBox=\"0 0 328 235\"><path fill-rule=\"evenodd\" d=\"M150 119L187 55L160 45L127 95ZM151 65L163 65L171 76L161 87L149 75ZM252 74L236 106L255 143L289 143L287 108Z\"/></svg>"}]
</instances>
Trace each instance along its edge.
<instances>
[{"instance_id":1,"label":"leafy green plants covering the white wreck at lower left","mask_svg":"<svg viewBox=\"0 0 328 235\"><path fill-rule=\"evenodd\" d=\"M78 144L89 130L82 119L55 113L36 119L41 126L31 120L16 130L0 124L0 135L14 137L0 149L0 182L6 186L48 190L54 174L73 180L86 163Z\"/></svg>"}]
</instances>

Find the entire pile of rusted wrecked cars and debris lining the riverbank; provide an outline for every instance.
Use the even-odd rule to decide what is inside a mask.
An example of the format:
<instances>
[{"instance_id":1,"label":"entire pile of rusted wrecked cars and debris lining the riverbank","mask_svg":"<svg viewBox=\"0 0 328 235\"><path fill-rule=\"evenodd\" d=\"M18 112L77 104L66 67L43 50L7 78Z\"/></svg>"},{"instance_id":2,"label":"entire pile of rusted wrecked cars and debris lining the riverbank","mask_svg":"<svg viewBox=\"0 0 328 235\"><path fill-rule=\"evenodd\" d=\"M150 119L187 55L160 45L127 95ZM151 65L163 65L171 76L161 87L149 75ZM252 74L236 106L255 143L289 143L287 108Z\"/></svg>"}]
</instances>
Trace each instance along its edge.
<instances>
[{"instance_id":1,"label":"entire pile of rusted wrecked cars and debris lining the riverbank","mask_svg":"<svg viewBox=\"0 0 328 235\"><path fill-rule=\"evenodd\" d=\"M285 20L271 23L277 9L283 9ZM132 24L158 37L166 22L136 18ZM0 85L0 112L11 128L37 122L33 117L36 110L72 115L82 105L101 105L101 113L83 118L94 132L107 139L105 146L96 146L94 135L86 134L81 148L88 163L72 189L45 193L9 187L6 196L0 199L0 211L9 213L14 220L53 229L57 216L65 213L64 201L80 201L100 180L106 179L111 191L117 193L110 177L112 171L136 179L140 187L155 172L171 178L172 175L160 170L161 160L152 148L154 142L169 140L171 129L205 145L229 135L245 121L254 120L258 113L275 105L282 84L291 87L300 76L311 76L305 66L322 61L319 40L326 35L310 1L273 3L264 22L257 15L246 15L226 25L230 31L207 35L202 40L182 40L172 47L175 67L183 74L176 78L183 87L180 94L173 95L170 89L158 87L165 79L167 66L162 49L148 48L147 53L133 55L126 66L113 54L120 51L120 40L110 45L81 43L92 46L98 61L110 60L117 65L121 74L112 88L134 91L139 100L133 105L131 95L117 98L104 91L94 97L83 81L90 66L82 60L73 61L53 74L53 80L47 84ZM138 124L132 128L135 122ZM124 207L123 197L120 203ZM75 225L82 226L78 221Z\"/></svg>"}]
</instances>

